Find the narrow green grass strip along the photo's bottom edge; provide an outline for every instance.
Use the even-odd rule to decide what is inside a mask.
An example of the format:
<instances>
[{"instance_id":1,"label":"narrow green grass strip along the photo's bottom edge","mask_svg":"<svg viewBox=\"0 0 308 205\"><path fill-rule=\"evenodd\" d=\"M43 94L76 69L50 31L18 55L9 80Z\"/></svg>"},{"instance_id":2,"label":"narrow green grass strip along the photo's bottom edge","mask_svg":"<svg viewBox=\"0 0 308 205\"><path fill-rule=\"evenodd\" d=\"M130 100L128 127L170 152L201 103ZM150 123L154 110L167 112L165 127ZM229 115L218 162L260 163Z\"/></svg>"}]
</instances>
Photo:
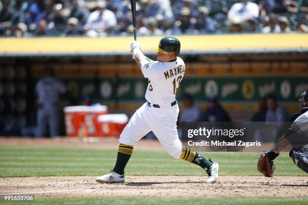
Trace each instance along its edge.
<instances>
[{"instance_id":1,"label":"narrow green grass strip along the photo's bottom edge","mask_svg":"<svg viewBox=\"0 0 308 205\"><path fill-rule=\"evenodd\" d=\"M31 204L307 204L308 197L37 197ZM7 202L7 204L21 204ZM30 204L30 202L22 203Z\"/></svg>"}]
</instances>

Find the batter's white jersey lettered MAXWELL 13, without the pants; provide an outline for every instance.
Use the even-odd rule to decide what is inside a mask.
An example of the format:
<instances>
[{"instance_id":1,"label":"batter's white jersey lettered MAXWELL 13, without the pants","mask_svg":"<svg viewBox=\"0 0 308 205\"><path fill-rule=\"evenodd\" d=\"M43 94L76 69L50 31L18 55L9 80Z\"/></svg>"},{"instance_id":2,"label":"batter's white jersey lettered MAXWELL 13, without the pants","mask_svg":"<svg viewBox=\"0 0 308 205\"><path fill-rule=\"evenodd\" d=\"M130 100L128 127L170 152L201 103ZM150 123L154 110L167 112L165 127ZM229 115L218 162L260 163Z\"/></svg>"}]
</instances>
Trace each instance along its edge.
<instances>
[{"instance_id":1,"label":"batter's white jersey lettered MAXWELL 13, without the pants","mask_svg":"<svg viewBox=\"0 0 308 205\"><path fill-rule=\"evenodd\" d=\"M145 99L158 105L169 104L176 99L176 89L184 77L184 61L177 57L174 62L150 61L141 65L148 78Z\"/></svg>"}]
</instances>

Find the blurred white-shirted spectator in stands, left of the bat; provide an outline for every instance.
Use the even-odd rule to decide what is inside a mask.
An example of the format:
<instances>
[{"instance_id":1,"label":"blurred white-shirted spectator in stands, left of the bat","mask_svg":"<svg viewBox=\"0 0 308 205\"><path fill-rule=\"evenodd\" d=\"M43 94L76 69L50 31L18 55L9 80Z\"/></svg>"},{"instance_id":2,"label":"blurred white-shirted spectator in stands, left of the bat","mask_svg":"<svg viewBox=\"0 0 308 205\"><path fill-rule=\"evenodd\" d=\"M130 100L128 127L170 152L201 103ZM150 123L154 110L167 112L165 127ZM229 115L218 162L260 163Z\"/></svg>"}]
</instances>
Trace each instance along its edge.
<instances>
[{"instance_id":1,"label":"blurred white-shirted spectator in stands, left of the bat","mask_svg":"<svg viewBox=\"0 0 308 205\"><path fill-rule=\"evenodd\" d=\"M107 28L114 28L116 24L115 14L106 9L106 2L104 0L99 0L96 3L96 10L88 17L86 27L92 30L92 33L96 32L100 36L104 35Z\"/></svg>"}]
</instances>

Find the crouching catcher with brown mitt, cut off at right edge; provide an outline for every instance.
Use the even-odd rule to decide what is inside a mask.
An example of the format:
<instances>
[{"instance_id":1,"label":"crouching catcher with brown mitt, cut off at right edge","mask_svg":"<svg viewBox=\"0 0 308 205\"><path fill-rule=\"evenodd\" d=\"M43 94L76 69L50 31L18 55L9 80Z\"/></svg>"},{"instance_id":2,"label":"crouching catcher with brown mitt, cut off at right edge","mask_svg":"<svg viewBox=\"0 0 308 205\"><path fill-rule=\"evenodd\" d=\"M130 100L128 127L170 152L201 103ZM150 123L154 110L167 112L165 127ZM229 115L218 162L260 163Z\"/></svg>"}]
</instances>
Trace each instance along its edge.
<instances>
[{"instance_id":1,"label":"crouching catcher with brown mitt, cut off at right edge","mask_svg":"<svg viewBox=\"0 0 308 205\"><path fill-rule=\"evenodd\" d=\"M291 117L294 121L288 131L278 139L272 150L262 153L258 161L258 170L266 177L272 177L274 171L273 160L287 145L291 145L289 152L294 164L308 173L308 90L304 90L298 97L300 114Z\"/></svg>"}]
</instances>

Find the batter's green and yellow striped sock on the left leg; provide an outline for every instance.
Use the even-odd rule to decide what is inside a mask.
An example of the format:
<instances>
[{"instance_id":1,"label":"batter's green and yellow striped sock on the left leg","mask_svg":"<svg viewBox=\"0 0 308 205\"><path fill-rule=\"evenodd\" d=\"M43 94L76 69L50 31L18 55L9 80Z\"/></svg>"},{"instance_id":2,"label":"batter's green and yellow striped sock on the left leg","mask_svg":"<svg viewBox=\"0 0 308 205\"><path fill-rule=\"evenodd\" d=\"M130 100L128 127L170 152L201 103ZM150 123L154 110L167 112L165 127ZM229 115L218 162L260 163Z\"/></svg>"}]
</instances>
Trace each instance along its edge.
<instances>
[{"instance_id":1,"label":"batter's green and yellow striped sock on the left leg","mask_svg":"<svg viewBox=\"0 0 308 205\"><path fill-rule=\"evenodd\" d=\"M124 174L125 166L132 154L133 146L120 144L118 149L118 156L116 165L113 168L113 171L118 174Z\"/></svg>"}]
</instances>

